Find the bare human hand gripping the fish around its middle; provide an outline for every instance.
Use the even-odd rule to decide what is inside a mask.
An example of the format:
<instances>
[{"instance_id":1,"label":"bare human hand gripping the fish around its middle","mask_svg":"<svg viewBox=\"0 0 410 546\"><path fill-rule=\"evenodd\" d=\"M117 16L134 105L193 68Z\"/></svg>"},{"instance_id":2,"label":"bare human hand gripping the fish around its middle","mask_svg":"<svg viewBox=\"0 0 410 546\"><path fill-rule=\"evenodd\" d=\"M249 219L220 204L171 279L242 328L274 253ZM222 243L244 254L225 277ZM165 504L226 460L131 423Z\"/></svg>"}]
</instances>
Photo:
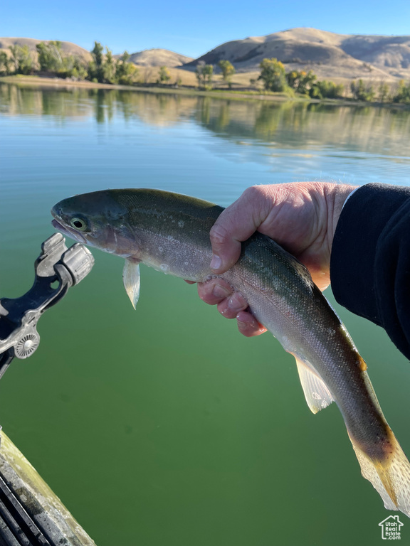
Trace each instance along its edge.
<instances>
[{"instance_id":1,"label":"bare human hand gripping the fish around its middle","mask_svg":"<svg viewBox=\"0 0 410 546\"><path fill-rule=\"evenodd\" d=\"M252 186L228 206L210 232L211 269L223 274L238 260L241 242L258 231L278 242L308 267L321 290L330 284L330 252L337 220L354 186L327 182L295 182ZM244 336L266 331L248 311L246 299L224 279L198 283L199 297L236 318Z\"/></svg>"}]
</instances>

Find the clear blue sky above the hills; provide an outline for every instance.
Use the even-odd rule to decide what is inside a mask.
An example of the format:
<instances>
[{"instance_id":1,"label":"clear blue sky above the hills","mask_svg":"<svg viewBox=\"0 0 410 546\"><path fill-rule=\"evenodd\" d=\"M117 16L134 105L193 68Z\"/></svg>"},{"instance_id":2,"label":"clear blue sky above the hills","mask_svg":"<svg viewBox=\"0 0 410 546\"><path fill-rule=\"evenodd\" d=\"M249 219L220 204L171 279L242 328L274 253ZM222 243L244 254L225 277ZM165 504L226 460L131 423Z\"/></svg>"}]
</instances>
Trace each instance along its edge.
<instances>
[{"instance_id":1,"label":"clear blue sky above the hills","mask_svg":"<svg viewBox=\"0 0 410 546\"><path fill-rule=\"evenodd\" d=\"M410 35L410 0L19 0L0 2L0 36L63 40L113 53L164 48L199 57L226 41L300 26Z\"/></svg>"}]
</instances>

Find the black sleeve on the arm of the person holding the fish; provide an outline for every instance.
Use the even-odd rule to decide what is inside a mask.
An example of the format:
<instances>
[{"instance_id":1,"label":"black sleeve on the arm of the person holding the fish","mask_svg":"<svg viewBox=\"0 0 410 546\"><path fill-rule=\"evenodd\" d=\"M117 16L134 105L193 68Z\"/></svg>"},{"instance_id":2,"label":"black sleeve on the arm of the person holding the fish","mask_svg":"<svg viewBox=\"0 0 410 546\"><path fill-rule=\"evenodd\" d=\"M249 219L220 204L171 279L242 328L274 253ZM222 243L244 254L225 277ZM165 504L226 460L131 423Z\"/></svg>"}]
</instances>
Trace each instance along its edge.
<instances>
[{"instance_id":1,"label":"black sleeve on the arm of the person holding the fish","mask_svg":"<svg viewBox=\"0 0 410 546\"><path fill-rule=\"evenodd\" d=\"M336 301L382 326L410 359L410 188L367 184L349 197L330 279Z\"/></svg>"}]
</instances>

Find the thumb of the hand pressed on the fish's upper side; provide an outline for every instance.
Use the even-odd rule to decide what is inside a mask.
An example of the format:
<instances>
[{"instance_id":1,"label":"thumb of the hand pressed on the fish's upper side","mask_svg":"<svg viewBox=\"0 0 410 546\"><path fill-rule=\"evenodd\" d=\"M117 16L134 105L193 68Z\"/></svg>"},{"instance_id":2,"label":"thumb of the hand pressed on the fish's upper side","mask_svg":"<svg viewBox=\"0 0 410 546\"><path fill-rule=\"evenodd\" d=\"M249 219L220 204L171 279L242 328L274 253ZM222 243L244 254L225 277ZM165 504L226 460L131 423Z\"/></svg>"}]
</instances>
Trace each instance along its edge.
<instances>
[{"instance_id":1,"label":"thumb of the hand pressed on the fish's upper side","mask_svg":"<svg viewBox=\"0 0 410 546\"><path fill-rule=\"evenodd\" d=\"M267 215L266 200L258 186L248 188L235 203L222 211L209 232L211 269L216 274L226 272L238 261L241 242L256 232Z\"/></svg>"}]
</instances>

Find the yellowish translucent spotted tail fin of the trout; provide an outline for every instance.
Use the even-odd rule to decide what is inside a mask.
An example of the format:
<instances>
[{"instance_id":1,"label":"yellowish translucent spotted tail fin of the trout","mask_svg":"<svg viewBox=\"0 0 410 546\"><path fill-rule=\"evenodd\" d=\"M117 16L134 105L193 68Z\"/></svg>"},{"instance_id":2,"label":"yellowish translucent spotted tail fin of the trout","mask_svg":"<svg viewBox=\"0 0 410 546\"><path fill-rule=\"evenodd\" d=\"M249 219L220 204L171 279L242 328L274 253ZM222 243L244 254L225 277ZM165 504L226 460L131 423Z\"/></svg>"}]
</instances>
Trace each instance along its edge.
<instances>
[{"instance_id":1,"label":"yellowish translucent spotted tail fin of the trout","mask_svg":"<svg viewBox=\"0 0 410 546\"><path fill-rule=\"evenodd\" d=\"M372 459L349 434L362 470L372 483L387 510L400 510L410 518L410 463L389 428L389 454L383 460Z\"/></svg>"}]
</instances>

